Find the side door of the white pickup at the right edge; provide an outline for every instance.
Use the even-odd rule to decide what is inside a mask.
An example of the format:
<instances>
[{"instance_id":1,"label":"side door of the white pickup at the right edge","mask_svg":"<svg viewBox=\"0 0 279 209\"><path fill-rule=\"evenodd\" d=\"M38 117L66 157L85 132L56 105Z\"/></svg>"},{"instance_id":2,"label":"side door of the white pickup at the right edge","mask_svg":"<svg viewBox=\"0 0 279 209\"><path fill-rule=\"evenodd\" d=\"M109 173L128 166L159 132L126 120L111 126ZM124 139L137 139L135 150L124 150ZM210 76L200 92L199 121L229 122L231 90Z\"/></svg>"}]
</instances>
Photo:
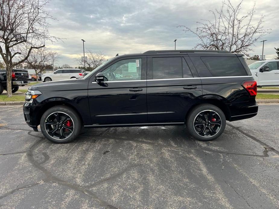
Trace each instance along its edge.
<instances>
[{"instance_id":1,"label":"side door of the white pickup at the right edge","mask_svg":"<svg viewBox=\"0 0 279 209\"><path fill-rule=\"evenodd\" d=\"M261 68L263 68L266 65L269 67L269 70L264 71L264 72L259 72L258 85L265 85L265 86L279 85L278 62L271 61L271 62L265 63L263 66L261 66Z\"/></svg>"}]
</instances>

